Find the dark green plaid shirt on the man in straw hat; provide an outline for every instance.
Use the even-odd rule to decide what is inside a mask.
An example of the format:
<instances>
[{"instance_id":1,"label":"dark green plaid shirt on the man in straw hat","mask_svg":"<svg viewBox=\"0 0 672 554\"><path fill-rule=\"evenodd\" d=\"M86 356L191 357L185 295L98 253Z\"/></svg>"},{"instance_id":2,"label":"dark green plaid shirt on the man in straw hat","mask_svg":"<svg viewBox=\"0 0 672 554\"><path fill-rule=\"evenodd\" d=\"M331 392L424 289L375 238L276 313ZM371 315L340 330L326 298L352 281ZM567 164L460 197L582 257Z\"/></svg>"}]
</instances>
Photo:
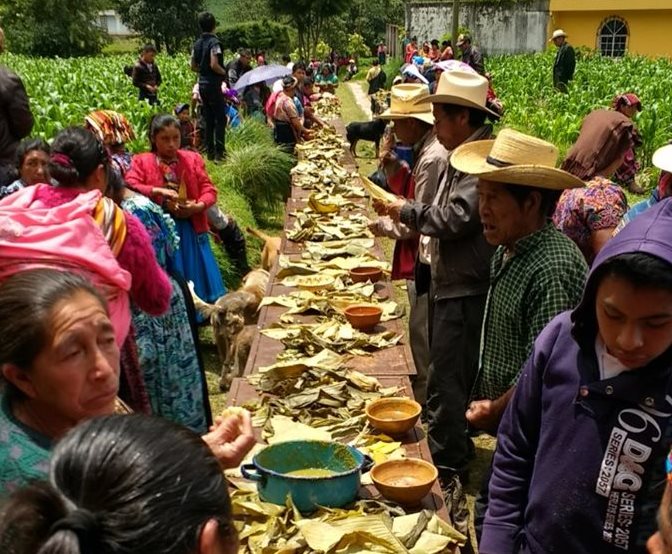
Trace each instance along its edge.
<instances>
[{"instance_id":1,"label":"dark green plaid shirt on the man in straw hat","mask_svg":"<svg viewBox=\"0 0 672 554\"><path fill-rule=\"evenodd\" d=\"M475 398L494 400L518 381L537 335L581 300L588 266L576 245L547 223L492 257Z\"/></svg>"}]
</instances>

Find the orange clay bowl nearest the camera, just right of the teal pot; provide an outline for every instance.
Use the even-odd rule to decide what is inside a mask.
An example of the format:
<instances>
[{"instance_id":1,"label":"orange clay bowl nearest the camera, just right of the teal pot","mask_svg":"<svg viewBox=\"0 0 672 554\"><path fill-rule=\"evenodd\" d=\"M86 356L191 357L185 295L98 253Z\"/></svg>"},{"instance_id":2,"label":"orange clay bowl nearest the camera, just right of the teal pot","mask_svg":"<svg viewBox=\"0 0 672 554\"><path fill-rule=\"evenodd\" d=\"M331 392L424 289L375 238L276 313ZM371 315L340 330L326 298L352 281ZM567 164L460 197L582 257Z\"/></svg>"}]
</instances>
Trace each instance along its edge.
<instances>
[{"instance_id":1,"label":"orange clay bowl nearest the camera, just right of the teal pot","mask_svg":"<svg viewBox=\"0 0 672 554\"><path fill-rule=\"evenodd\" d=\"M402 506L420 504L438 476L432 464L418 458L387 460L371 470L371 479L380 494Z\"/></svg>"}]
</instances>

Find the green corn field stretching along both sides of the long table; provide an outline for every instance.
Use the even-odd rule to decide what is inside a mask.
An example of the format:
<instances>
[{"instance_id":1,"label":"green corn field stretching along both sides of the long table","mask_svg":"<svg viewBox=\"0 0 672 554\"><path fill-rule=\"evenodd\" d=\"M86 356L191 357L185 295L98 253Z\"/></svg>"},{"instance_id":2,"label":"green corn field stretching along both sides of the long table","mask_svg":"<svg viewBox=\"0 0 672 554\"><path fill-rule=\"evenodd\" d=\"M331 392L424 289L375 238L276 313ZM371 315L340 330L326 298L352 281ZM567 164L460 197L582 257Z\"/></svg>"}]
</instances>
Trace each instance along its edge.
<instances>
[{"instance_id":1,"label":"green corn field stretching along both sides of the long table","mask_svg":"<svg viewBox=\"0 0 672 554\"><path fill-rule=\"evenodd\" d=\"M651 155L672 139L672 61L611 59L580 51L569 94L561 94L551 84L553 57L549 51L486 60L506 109L502 125L549 140L564 154L588 112L610 106L618 93L634 92L643 105L636 119L644 141L638 159L644 172L652 173ZM138 135L131 149L142 150L147 147L148 122L156 109L137 100L137 90L123 72L134 61L130 55L39 59L7 54L2 58L26 85L36 118L34 134L52 138L67 125L81 124L89 111L108 108L129 118ZM164 78L159 91L161 109L170 111L177 103L189 102L196 76L189 68L188 55L160 55L157 63Z\"/></svg>"}]
</instances>

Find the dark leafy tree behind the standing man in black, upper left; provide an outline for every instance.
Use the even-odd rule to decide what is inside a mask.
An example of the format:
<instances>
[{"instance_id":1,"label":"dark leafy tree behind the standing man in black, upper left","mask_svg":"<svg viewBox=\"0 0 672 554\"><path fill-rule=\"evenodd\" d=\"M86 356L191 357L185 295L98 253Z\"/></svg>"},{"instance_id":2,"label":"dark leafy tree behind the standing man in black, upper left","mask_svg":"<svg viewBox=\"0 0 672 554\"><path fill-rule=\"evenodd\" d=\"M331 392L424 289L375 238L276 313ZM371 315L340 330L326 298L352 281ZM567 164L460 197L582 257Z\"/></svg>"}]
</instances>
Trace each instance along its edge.
<instances>
[{"instance_id":1,"label":"dark leafy tree behind the standing man in black, upper left","mask_svg":"<svg viewBox=\"0 0 672 554\"><path fill-rule=\"evenodd\" d=\"M198 34L203 0L116 0L116 9L126 26L175 54Z\"/></svg>"}]
</instances>

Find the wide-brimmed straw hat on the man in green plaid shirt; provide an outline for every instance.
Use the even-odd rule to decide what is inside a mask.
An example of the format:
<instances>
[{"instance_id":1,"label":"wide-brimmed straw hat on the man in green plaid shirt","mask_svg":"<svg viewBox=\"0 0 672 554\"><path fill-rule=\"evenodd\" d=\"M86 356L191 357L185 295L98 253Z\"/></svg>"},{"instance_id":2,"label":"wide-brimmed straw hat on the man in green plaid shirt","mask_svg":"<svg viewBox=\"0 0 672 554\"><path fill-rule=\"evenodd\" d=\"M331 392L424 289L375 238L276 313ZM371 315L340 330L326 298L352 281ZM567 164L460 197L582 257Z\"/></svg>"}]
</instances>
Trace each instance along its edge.
<instances>
[{"instance_id":1,"label":"wide-brimmed straw hat on the man in green plaid shirt","mask_svg":"<svg viewBox=\"0 0 672 554\"><path fill-rule=\"evenodd\" d=\"M585 186L578 177L556 169L557 160L558 149L550 142L502 129L494 140L477 140L457 147L450 165L497 183L551 190Z\"/></svg>"}]
</instances>

